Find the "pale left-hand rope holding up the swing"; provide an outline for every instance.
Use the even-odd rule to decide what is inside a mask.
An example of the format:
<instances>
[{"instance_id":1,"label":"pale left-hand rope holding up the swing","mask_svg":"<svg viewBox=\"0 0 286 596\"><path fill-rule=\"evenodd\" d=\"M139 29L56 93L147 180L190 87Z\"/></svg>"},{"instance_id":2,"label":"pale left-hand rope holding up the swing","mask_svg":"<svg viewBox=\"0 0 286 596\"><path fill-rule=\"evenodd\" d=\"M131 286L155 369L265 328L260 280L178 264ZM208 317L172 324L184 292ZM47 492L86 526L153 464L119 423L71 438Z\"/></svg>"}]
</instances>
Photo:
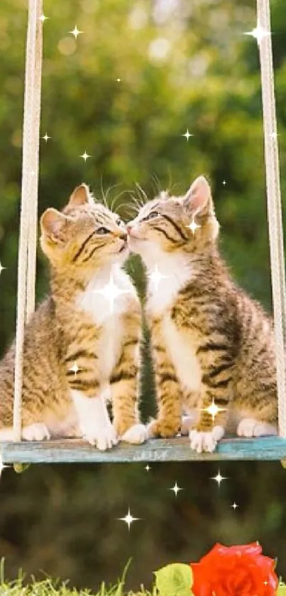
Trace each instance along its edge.
<instances>
[{"instance_id":1,"label":"pale left-hand rope holding up the swing","mask_svg":"<svg viewBox=\"0 0 286 596\"><path fill-rule=\"evenodd\" d=\"M16 320L14 440L21 440L24 326L35 307L35 253L37 242L38 154L40 136L40 76L42 63L43 0L29 0L23 118L23 170L18 294Z\"/></svg>"}]
</instances>

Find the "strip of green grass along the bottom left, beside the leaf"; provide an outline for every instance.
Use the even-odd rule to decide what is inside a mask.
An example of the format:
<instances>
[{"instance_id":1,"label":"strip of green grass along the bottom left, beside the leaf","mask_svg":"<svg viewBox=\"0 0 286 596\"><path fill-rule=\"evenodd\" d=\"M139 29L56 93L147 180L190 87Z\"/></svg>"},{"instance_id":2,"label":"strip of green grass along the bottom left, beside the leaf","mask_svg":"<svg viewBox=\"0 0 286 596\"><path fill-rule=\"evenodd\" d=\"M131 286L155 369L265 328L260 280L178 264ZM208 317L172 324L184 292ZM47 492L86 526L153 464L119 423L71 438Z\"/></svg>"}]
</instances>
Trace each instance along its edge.
<instances>
[{"instance_id":1,"label":"strip of green grass along the bottom left, beside the leaf","mask_svg":"<svg viewBox=\"0 0 286 596\"><path fill-rule=\"evenodd\" d=\"M31 581L28 583L21 571L16 580L6 580L4 574L4 559L1 559L0 596L156 596L155 590L153 592L148 592L143 586L140 587L139 592L126 592L124 590L129 563L123 571L122 578L116 585L108 587L105 582L102 582L98 592L91 592L91 590L85 588L76 590L74 587L68 585L68 581L61 582L60 580L51 580L50 578L36 581L32 576Z\"/></svg>"}]
</instances>

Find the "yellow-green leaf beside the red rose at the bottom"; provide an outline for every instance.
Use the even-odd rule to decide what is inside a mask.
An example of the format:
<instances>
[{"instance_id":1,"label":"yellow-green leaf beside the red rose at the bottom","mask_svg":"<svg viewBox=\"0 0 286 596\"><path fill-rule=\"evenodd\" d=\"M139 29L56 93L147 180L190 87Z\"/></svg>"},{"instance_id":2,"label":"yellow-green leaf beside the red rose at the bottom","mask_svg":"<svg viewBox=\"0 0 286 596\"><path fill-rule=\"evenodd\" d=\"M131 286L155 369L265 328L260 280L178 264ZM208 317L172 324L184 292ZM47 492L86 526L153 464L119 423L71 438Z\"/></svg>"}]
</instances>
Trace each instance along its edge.
<instances>
[{"instance_id":1,"label":"yellow-green leaf beside the red rose at the bottom","mask_svg":"<svg viewBox=\"0 0 286 596\"><path fill-rule=\"evenodd\" d=\"M155 586L160 596L192 596L190 565L172 563L155 571Z\"/></svg>"}]
</instances>

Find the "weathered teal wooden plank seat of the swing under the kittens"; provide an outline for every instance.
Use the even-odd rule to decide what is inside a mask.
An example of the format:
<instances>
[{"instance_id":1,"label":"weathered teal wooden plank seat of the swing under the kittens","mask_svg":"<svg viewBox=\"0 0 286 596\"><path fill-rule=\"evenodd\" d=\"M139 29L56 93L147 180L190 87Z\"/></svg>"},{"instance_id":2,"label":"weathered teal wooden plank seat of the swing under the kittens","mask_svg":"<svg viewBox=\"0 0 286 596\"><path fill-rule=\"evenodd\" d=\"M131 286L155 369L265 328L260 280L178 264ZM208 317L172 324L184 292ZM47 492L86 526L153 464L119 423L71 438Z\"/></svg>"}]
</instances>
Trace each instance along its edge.
<instances>
[{"instance_id":1,"label":"weathered teal wooden plank seat of the swing under the kittens","mask_svg":"<svg viewBox=\"0 0 286 596\"><path fill-rule=\"evenodd\" d=\"M99 451L83 441L2 442L4 464L116 463L116 462L198 462L215 460L286 459L286 439L226 439L214 453L198 454L189 447L186 437L150 440L143 445L120 445Z\"/></svg>"}]
</instances>

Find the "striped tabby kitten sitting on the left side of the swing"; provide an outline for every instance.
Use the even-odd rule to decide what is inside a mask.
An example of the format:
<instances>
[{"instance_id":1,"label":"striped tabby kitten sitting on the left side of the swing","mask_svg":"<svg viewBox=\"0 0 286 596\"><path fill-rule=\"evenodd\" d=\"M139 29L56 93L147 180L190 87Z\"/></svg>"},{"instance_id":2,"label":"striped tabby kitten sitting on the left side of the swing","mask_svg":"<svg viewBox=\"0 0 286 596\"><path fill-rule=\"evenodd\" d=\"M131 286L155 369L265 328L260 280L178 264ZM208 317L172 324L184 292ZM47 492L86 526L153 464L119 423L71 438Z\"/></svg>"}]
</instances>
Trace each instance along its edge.
<instances>
[{"instance_id":1,"label":"striped tabby kitten sitting on the left side of the swing","mask_svg":"<svg viewBox=\"0 0 286 596\"><path fill-rule=\"evenodd\" d=\"M99 449L145 440L138 418L141 309L128 275L126 228L77 187L40 220L50 296L26 326L23 439L83 437ZM114 284L120 294L104 294ZM14 345L0 363L0 440L12 437ZM106 400L113 405L113 425Z\"/></svg>"}]
</instances>

